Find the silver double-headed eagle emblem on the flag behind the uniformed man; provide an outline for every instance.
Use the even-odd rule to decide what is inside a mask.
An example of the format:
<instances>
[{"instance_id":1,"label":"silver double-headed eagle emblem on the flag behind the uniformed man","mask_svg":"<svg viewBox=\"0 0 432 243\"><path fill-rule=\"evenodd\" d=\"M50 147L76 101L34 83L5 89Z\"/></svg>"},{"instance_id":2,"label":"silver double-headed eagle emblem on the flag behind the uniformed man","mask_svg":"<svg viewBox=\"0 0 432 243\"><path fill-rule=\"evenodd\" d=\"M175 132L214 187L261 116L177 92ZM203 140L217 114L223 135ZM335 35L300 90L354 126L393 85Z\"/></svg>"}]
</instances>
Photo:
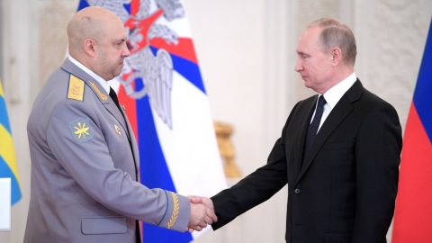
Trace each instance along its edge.
<instances>
[{"instance_id":1,"label":"silver double-headed eagle emblem on the flag behind the uniformed man","mask_svg":"<svg viewBox=\"0 0 432 243\"><path fill-rule=\"evenodd\" d=\"M121 84L131 98L140 99L148 95L153 110L172 129L173 61L166 49L152 51L149 42L158 38L169 44L177 44L175 31L156 21L161 17L167 22L183 18L184 7L179 0L137 0L138 11L130 14L124 6L132 1L87 0L87 3L104 7L121 18L128 31L131 52L130 57L125 59ZM136 84L133 84L139 81L143 88L137 90Z\"/></svg>"}]
</instances>

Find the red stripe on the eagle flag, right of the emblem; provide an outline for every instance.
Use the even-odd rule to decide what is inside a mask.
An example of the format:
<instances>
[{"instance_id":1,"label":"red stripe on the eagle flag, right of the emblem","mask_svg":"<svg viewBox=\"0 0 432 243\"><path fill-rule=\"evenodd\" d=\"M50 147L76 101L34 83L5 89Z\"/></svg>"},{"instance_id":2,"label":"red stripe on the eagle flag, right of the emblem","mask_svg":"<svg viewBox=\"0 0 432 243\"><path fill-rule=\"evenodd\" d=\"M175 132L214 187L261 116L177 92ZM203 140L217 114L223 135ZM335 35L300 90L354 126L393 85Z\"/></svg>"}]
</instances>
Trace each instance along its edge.
<instances>
[{"instance_id":1,"label":"red stripe on the eagle flag, right of the emblem","mask_svg":"<svg viewBox=\"0 0 432 243\"><path fill-rule=\"evenodd\" d=\"M195 50L193 49L193 40L189 38L178 38L177 44L168 44L164 39L154 38L150 40L150 46L157 49L166 49L169 53L174 54L180 58L185 58L198 64Z\"/></svg>"}]
</instances>

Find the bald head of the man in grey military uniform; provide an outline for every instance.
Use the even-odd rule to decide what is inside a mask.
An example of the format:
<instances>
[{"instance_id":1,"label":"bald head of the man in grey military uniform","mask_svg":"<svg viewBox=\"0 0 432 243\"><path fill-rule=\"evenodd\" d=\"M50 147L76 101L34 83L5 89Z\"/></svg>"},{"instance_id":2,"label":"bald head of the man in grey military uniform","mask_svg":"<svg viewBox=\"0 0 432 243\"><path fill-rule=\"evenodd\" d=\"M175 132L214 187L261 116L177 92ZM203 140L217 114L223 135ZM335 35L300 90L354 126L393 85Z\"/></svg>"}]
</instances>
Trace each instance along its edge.
<instances>
[{"instance_id":1,"label":"bald head of the man in grey military uniform","mask_svg":"<svg viewBox=\"0 0 432 243\"><path fill-rule=\"evenodd\" d=\"M121 19L96 6L77 12L67 25L69 55L105 80L121 74L130 55Z\"/></svg>"}]
</instances>

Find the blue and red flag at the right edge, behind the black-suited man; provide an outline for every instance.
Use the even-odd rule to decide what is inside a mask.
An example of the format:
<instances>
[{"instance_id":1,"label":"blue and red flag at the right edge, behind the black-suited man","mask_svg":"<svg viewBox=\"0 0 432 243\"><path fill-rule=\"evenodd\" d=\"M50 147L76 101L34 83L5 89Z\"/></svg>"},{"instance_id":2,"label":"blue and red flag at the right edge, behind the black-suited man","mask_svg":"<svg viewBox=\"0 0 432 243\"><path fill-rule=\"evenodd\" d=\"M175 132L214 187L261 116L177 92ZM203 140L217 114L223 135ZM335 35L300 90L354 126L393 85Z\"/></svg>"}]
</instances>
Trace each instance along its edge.
<instances>
[{"instance_id":1,"label":"blue and red flag at the right edge, behind the black-suited man","mask_svg":"<svg viewBox=\"0 0 432 243\"><path fill-rule=\"evenodd\" d=\"M432 30L410 107L396 199L392 243L432 242Z\"/></svg>"}]
</instances>

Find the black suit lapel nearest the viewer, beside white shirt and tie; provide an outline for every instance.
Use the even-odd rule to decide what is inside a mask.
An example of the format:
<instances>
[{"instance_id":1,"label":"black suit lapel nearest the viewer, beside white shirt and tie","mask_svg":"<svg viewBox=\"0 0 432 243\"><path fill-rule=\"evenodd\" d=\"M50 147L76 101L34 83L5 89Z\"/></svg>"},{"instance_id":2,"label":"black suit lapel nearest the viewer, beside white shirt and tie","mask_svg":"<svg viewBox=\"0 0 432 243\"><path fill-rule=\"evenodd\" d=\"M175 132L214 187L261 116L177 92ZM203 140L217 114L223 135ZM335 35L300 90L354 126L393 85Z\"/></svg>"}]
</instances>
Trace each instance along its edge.
<instances>
[{"instance_id":1,"label":"black suit lapel nearest the viewer, beside white shirt and tie","mask_svg":"<svg viewBox=\"0 0 432 243\"><path fill-rule=\"evenodd\" d=\"M340 122L344 121L347 115L353 111L352 103L360 98L362 91L363 91L363 85L360 83L360 80L357 79L356 83L347 90L347 93L340 98L335 108L333 108L333 110L329 113L329 116L327 117L326 121L324 121L324 123L322 124L317 134L317 137L313 141L310 153L304 155L302 169L300 171L300 175L297 178L296 184L300 181L302 176L306 173L308 168L311 166L313 159L317 156L318 152L320 151L320 148L322 148L326 140L329 138L329 135L334 130L336 130ZM307 129L308 128L306 128L306 130ZM304 134L302 145L304 145L305 136L306 135Z\"/></svg>"}]
</instances>

